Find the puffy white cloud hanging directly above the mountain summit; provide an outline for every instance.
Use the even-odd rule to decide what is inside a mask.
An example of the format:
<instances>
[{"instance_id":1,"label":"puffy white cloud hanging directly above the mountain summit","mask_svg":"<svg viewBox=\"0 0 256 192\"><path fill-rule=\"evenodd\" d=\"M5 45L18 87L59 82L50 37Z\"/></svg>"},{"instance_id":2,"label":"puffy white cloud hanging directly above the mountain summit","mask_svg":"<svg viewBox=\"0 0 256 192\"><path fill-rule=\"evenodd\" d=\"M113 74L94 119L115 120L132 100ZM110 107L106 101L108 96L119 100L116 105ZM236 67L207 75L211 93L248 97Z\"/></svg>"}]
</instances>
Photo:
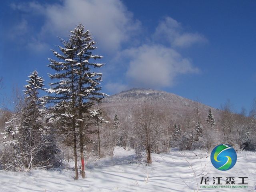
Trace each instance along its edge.
<instances>
[{"instance_id":1,"label":"puffy white cloud hanging directly above the mountain summit","mask_svg":"<svg viewBox=\"0 0 256 192\"><path fill-rule=\"evenodd\" d=\"M172 48L157 44L144 44L124 50L122 56L130 58L126 78L134 86L164 88L173 86L180 74L198 73L188 58Z\"/></svg>"}]
</instances>

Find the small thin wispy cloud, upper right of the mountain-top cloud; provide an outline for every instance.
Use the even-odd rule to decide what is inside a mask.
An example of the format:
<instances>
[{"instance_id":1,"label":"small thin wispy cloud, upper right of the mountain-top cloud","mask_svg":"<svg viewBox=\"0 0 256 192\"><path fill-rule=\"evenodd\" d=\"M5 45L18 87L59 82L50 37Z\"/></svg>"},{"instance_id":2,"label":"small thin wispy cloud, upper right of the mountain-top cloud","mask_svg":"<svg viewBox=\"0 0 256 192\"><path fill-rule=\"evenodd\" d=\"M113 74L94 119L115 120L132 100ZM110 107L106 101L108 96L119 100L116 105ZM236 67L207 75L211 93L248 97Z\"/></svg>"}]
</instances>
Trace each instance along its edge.
<instances>
[{"instance_id":1,"label":"small thin wispy cloud, upper right of the mountain-top cloud","mask_svg":"<svg viewBox=\"0 0 256 192\"><path fill-rule=\"evenodd\" d=\"M181 48L208 42L201 34L184 32L182 24L170 17L166 17L158 24L153 39L160 42L167 40L172 47Z\"/></svg>"}]
</instances>

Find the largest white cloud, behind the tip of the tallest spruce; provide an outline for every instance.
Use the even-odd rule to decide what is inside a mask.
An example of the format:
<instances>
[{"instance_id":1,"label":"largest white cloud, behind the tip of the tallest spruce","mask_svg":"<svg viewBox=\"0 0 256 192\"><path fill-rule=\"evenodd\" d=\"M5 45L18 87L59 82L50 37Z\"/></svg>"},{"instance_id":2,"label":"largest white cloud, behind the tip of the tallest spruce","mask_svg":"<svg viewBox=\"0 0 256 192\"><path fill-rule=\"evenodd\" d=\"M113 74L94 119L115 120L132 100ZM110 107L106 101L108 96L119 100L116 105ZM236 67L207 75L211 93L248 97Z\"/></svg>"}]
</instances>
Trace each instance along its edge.
<instances>
[{"instance_id":1,"label":"largest white cloud, behind the tip of the tallest spruce","mask_svg":"<svg viewBox=\"0 0 256 192\"><path fill-rule=\"evenodd\" d=\"M28 6L45 17L41 36L50 33L68 37L69 31L81 22L90 30L98 47L108 52L120 49L122 43L140 30L140 22L134 20L120 0L63 0L62 4Z\"/></svg>"}]
</instances>

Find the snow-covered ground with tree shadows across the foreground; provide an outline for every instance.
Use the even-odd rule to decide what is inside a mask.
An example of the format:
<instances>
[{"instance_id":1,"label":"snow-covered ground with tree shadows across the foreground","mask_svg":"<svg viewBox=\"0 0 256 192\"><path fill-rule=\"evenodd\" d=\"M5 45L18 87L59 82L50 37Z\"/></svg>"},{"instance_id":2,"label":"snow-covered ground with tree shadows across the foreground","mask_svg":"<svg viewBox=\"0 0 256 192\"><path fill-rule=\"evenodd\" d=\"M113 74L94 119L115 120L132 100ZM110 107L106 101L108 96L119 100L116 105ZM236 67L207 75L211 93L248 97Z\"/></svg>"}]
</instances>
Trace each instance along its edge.
<instances>
[{"instance_id":1,"label":"snow-covered ground with tree shadows across the foreground","mask_svg":"<svg viewBox=\"0 0 256 192\"><path fill-rule=\"evenodd\" d=\"M184 157L183 157L183 156ZM70 169L33 170L14 173L0 170L0 192L192 192L200 187L200 177L248 177L248 188L199 189L206 192L254 191L256 184L256 153L240 152L236 165L228 171L214 168L208 154L203 151L171 150L167 154L152 154L153 163L136 162L133 150L116 148L114 157L88 162L86 178L74 180ZM186 159L185 159L186 158ZM192 165L194 172L190 167ZM198 183L198 184L197 184Z\"/></svg>"}]
</instances>

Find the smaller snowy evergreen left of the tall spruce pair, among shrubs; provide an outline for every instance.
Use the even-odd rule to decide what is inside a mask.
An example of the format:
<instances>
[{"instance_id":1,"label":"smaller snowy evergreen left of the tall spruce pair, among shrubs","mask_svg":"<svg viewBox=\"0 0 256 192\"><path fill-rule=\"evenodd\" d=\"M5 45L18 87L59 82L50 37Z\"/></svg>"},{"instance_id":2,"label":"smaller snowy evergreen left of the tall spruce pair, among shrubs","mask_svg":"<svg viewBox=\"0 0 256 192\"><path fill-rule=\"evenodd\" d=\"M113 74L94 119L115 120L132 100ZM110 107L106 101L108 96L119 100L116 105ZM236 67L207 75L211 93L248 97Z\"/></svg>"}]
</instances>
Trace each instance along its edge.
<instances>
[{"instance_id":1,"label":"smaller snowy evergreen left of the tall spruce pair, among shrubs","mask_svg":"<svg viewBox=\"0 0 256 192\"><path fill-rule=\"evenodd\" d=\"M39 147L40 150L43 150L44 146L40 146L40 142L46 138L46 127L43 126L42 120L45 112L45 100L44 97L38 97L39 90L44 90L44 79L38 76L36 70L28 77L29 80L26 81L28 84L24 86L26 88L24 90L26 107L23 109L22 144L24 146L21 149L24 148L27 153L30 153L28 167L32 169L33 161L37 160L35 154L39 155L39 151L34 148ZM32 152L34 155L31 154Z\"/></svg>"}]
</instances>

